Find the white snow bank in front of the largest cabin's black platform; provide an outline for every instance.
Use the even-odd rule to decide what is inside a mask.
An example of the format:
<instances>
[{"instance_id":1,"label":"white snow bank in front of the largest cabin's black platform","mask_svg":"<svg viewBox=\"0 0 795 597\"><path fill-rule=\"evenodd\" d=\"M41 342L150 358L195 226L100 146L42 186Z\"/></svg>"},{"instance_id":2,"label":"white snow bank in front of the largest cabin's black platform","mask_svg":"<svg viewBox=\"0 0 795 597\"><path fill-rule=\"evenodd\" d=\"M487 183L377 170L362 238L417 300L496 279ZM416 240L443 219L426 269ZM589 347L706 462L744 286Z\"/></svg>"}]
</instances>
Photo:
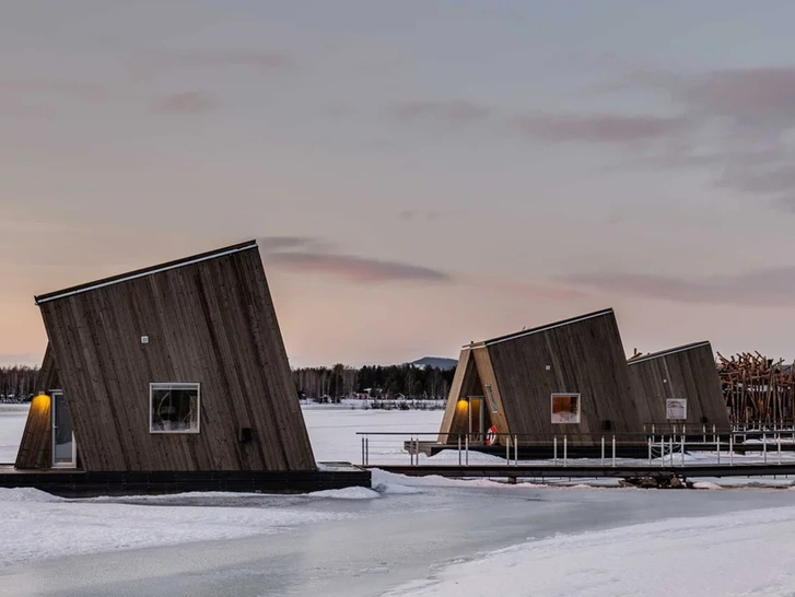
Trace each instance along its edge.
<instances>
[{"instance_id":1,"label":"white snow bank in front of the largest cabin's black platform","mask_svg":"<svg viewBox=\"0 0 795 597\"><path fill-rule=\"evenodd\" d=\"M185 495L196 497L196 494ZM236 494L226 494L232 495ZM179 496L160 500L167 502L175 497ZM353 516L306 506L274 507L265 502L262 507L208 507L139 505L114 503L114 500L121 499L70 501L36 490L3 490L0 492L0 570L46 558L235 539Z\"/></svg>"}]
</instances>

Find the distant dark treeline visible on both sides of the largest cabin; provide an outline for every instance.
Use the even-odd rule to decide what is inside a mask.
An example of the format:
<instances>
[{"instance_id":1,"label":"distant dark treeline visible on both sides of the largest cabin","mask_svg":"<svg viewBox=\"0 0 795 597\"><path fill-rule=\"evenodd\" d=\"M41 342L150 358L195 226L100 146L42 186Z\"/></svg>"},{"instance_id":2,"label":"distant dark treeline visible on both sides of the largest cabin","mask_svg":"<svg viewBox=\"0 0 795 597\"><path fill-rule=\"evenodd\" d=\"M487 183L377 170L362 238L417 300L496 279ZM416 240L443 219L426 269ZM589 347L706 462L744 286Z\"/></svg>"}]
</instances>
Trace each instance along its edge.
<instances>
[{"instance_id":1,"label":"distant dark treeline visible on both sides of the largest cabin","mask_svg":"<svg viewBox=\"0 0 795 597\"><path fill-rule=\"evenodd\" d=\"M414 365L308 367L293 371L299 395L339 401L342 398L446 399L454 370ZM0 367L0 401L30 401L38 367Z\"/></svg>"}]
</instances>

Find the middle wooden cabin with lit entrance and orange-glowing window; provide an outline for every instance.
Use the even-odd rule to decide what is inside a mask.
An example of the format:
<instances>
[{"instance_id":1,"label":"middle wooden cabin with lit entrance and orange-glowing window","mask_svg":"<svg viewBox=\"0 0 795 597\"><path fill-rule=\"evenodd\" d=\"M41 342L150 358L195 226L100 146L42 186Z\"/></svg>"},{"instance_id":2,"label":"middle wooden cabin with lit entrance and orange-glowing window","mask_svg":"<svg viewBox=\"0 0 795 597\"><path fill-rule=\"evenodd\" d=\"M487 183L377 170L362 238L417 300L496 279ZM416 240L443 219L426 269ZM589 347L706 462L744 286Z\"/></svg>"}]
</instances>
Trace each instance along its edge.
<instances>
[{"instance_id":1,"label":"middle wooden cabin with lit entrance and orange-glowing window","mask_svg":"<svg viewBox=\"0 0 795 597\"><path fill-rule=\"evenodd\" d=\"M638 402L612 309L464 347L439 442L488 442L488 430L519 445L594 445L613 433L642 433Z\"/></svg>"}]
</instances>

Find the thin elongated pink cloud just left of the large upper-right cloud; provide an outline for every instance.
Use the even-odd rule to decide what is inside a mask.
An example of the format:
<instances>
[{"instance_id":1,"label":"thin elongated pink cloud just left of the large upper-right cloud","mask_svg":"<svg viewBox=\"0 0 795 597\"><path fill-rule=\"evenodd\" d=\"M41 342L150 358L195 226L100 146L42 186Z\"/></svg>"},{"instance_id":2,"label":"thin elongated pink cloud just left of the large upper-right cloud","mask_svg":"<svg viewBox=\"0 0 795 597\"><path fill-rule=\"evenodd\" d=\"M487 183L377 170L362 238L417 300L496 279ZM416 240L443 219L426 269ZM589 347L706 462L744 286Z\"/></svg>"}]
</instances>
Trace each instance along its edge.
<instances>
[{"instance_id":1,"label":"thin elongated pink cloud just left of the large upper-right cloud","mask_svg":"<svg viewBox=\"0 0 795 597\"><path fill-rule=\"evenodd\" d=\"M665 139L681 132L681 118L618 114L533 114L513 119L525 136L550 142L632 143Z\"/></svg>"}]
</instances>

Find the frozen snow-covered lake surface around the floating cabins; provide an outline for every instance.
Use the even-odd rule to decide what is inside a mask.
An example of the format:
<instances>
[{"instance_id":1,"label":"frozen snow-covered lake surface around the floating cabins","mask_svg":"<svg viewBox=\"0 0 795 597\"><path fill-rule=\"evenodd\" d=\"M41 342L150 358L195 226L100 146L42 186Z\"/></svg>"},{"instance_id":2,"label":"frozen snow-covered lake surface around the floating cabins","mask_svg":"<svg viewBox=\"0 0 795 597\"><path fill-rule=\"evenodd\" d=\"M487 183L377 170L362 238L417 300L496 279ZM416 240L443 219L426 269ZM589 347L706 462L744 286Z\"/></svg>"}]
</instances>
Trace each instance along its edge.
<instances>
[{"instance_id":1,"label":"frozen snow-covered lake surface around the floating cabins","mask_svg":"<svg viewBox=\"0 0 795 597\"><path fill-rule=\"evenodd\" d=\"M309 407L305 417L318 459L358 461L356 431L434 431L442 412ZM13 459L23 425L24 412L0 409L1 459ZM399 441L378 449L402 457ZM662 596L671 578L700 595L795 588L791 490L538 488L379 472L374 484L84 501L0 490L0 595Z\"/></svg>"}]
</instances>

